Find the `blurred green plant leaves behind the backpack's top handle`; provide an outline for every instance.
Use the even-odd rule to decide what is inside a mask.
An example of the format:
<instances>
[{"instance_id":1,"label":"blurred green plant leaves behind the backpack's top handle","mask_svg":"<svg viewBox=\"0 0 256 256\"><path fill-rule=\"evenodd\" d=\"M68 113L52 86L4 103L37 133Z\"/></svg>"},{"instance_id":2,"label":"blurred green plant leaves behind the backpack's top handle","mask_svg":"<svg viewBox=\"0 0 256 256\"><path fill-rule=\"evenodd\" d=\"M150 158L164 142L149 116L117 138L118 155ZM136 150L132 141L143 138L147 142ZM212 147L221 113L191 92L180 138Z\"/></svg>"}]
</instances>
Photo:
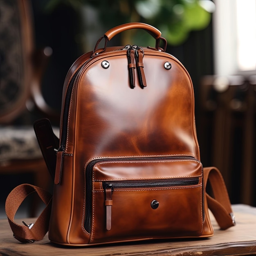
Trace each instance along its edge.
<instances>
[{"instance_id":1,"label":"blurred green plant leaves behind the backpack's top handle","mask_svg":"<svg viewBox=\"0 0 256 256\"><path fill-rule=\"evenodd\" d=\"M180 45L190 31L206 28L211 13L204 6L207 3L214 6L210 0L49 0L48 3L48 9L66 4L78 12L81 4L92 6L106 29L127 22L148 23L157 27L170 45ZM141 45L152 45L152 38L141 31L130 33L127 39L136 44L144 41Z\"/></svg>"}]
</instances>

